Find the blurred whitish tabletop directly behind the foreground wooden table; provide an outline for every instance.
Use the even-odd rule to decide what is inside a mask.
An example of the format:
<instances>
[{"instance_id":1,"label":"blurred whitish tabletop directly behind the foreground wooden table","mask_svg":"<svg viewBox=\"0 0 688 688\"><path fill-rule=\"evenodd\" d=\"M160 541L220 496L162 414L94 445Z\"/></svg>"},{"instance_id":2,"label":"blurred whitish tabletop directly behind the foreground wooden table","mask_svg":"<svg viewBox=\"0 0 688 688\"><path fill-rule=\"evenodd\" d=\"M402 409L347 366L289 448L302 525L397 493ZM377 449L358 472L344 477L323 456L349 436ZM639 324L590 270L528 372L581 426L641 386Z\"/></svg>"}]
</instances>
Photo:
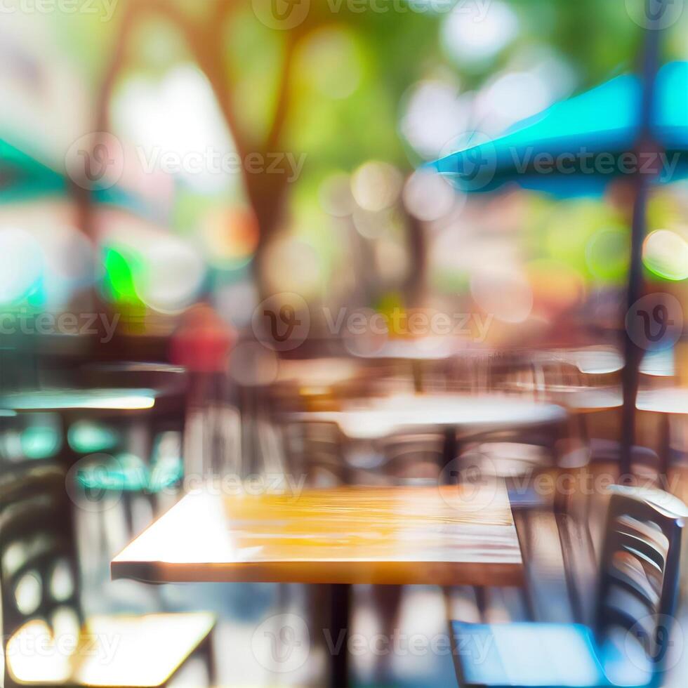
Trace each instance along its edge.
<instances>
[{"instance_id":1,"label":"blurred whitish tabletop directly behind the foreground wooden table","mask_svg":"<svg viewBox=\"0 0 688 688\"><path fill-rule=\"evenodd\" d=\"M461 430L508 430L564 421L566 411L505 395L399 395L342 411L307 411L294 421L336 423L350 439L376 439L403 428L454 426Z\"/></svg>"}]
</instances>

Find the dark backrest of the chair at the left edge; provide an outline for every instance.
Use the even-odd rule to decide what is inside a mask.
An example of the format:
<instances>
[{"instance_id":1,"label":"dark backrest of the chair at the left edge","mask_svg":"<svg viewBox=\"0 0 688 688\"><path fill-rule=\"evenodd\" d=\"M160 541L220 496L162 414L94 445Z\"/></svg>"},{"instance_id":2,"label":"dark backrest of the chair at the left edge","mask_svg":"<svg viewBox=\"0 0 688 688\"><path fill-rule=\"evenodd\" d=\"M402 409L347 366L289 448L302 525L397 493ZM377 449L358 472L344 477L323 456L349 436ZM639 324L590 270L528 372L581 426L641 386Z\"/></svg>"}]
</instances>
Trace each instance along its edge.
<instances>
[{"instance_id":1,"label":"dark backrest of the chair at the left edge","mask_svg":"<svg viewBox=\"0 0 688 688\"><path fill-rule=\"evenodd\" d=\"M0 463L2 647L29 621L81 625L72 513L54 462ZM13 685L5 662L5 685Z\"/></svg>"}]
</instances>

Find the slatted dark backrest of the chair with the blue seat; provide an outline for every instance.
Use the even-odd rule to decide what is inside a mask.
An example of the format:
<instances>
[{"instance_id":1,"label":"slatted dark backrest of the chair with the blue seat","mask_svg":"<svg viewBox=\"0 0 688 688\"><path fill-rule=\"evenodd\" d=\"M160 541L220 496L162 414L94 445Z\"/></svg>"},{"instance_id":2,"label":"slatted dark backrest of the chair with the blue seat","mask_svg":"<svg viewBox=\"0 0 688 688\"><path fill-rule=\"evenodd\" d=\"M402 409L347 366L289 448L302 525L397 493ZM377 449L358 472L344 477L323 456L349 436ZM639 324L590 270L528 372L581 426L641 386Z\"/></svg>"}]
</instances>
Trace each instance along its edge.
<instances>
[{"instance_id":1,"label":"slatted dark backrest of the chair with the blue seat","mask_svg":"<svg viewBox=\"0 0 688 688\"><path fill-rule=\"evenodd\" d=\"M683 521L668 499L661 500L664 493L654 494L617 487L611 495L595 635L601 646L616 630L630 633L659 674L670 648L668 620L677 602Z\"/></svg>"}]
</instances>

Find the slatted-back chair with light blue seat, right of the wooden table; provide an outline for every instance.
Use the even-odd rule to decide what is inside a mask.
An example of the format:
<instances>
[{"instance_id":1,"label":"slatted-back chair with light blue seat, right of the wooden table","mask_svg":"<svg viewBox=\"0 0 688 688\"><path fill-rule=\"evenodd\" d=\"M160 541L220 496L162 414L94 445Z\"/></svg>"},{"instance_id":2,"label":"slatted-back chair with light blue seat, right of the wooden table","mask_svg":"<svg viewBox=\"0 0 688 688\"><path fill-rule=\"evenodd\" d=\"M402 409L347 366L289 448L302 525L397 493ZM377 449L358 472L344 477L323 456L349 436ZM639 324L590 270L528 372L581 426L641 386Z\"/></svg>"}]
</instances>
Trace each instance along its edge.
<instances>
[{"instance_id":1,"label":"slatted-back chair with light blue seat, right of the wooden table","mask_svg":"<svg viewBox=\"0 0 688 688\"><path fill-rule=\"evenodd\" d=\"M674 613L683 522L660 491L614 488L594 628L452 621L463 686L654 687Z\"/></svg>"}]
</instances>

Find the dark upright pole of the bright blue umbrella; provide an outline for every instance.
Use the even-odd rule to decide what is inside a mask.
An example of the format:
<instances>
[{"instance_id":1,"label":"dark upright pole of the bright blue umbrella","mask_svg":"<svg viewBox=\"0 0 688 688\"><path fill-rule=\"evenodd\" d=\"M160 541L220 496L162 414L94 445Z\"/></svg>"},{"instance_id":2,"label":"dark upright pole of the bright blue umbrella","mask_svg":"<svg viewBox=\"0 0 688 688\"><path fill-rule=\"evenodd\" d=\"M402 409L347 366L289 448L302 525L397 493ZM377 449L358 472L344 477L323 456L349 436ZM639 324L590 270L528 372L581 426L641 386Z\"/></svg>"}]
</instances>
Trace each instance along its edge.
<instances>
[{"instance_id":1,"label":"dark upright pole of the bright blue umbrella","mask_svg":"<svg viewBox=\"0 0 688 688\"><path fill-rule=\"evenodd\" d=\"M667 0L661 0L666 3ZM649 13L647 14L649 16ZM640 112L640 131L636 150L652 150L652 120L654 115L655 82L660 64L661 29L644 28L644 54L642 62L642 100ZM623 368L623 414L621 420L621 465L620 480L628 482L632 477L632 449L635 444L636 400L640 378L640 362L643 350L630 337L626 326L626 313L642 296L642 244L647 234L647 199L651 178L640 170L635 176L635 197L633 201L633 223L630 239L630 267L628 271L628 293L626 309L623 313L623 333L625 337L625 359Z\"/></svg>"}]
</instances>

